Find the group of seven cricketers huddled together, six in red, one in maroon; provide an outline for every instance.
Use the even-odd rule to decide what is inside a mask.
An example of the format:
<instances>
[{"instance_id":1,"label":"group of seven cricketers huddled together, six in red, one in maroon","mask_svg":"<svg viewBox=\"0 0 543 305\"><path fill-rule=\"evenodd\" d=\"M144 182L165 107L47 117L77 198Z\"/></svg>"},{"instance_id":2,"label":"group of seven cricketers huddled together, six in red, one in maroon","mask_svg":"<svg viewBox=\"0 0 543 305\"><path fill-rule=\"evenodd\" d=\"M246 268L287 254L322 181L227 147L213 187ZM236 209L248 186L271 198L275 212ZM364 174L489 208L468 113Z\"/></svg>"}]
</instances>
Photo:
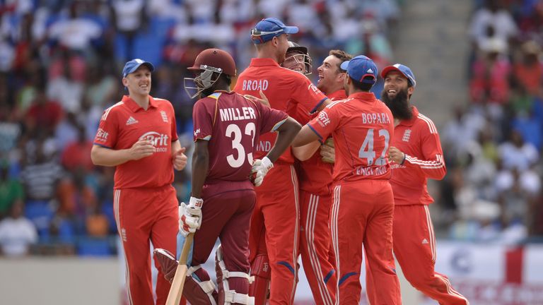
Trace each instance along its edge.
<instances>
[{"instance_id":1,"label":"group of seven cricketers huddled together, six in red, one in maroon","mask_svg":"<svg viewBox=\"0 0 543 305\"><path fill-rule=\"evenodd\" d=\"M381 101L370 92L375 63L332 50L313 85L308 49L288 41L296 32L265 18L251 30L257 56L239 75L221 49L204 50L189 68L195 77L185 89L199 97L192 193L178 212L173 169L187 157L173 109L148 95L151 63L125 66L129 95L105 111L92 156L117 166L114 208L129 303L153 304L151 241L156 304L165 304L190 234L182 303L293 304L300 256L315 304L359 304L364 256L368 303L402 304L395 256L428 297L469 304L434 271L426 180L442 179L446 169L436 126L409 102L414 73L385 67ZM170 145L158 147L157 135ZM217 239L215 284L201 265Z\"/></svg>"}]
</instances>

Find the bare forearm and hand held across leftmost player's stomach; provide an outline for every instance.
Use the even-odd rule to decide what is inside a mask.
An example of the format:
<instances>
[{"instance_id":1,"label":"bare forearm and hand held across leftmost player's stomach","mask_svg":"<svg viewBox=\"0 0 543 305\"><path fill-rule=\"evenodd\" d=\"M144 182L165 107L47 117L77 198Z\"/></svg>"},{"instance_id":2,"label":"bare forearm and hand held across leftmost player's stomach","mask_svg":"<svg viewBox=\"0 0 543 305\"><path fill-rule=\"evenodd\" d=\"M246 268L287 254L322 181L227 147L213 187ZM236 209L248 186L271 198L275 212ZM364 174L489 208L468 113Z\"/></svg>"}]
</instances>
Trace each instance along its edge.
<instances>
[{"instance_id":1,"label":"bare forearm and hand held across leftmost player's stomach","mask_svg":"<svg viewBox=\"0 0 543 305\"><path fill-rule=\"evenodd\" d=\"M114 150L100 145L93 145L91 160L94 165L117 166L128 161L140 160L141 158L153 155L156 148L149 140L139 140L131 148Z\"/></svg>"}]
</instances>

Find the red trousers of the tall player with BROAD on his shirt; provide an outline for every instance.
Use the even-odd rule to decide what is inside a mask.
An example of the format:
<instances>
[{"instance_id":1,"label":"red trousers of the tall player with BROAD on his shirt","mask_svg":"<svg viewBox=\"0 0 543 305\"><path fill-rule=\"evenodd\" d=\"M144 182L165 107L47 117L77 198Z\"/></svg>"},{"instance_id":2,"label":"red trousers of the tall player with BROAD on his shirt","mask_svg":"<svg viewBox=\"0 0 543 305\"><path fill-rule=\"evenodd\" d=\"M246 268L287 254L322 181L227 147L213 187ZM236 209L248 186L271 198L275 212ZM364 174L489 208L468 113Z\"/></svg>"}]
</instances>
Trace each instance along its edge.
<instances>
[{"instance_id":1,"label":"red trousers of the tall player with BROAD on his shirt","mask_svg":"<svg viewBox=\"0 0 543 305\"><path fill-rule=\"evenodd\" d=\"M267 251L271 267L269 304L292 304L299 243L298 177L293 165L276 163L261 186L249 232L250 262ZM262 239L266 249L262 247ZM255 304L265 300L255 299Z\"/></svg>"}]
</instances>

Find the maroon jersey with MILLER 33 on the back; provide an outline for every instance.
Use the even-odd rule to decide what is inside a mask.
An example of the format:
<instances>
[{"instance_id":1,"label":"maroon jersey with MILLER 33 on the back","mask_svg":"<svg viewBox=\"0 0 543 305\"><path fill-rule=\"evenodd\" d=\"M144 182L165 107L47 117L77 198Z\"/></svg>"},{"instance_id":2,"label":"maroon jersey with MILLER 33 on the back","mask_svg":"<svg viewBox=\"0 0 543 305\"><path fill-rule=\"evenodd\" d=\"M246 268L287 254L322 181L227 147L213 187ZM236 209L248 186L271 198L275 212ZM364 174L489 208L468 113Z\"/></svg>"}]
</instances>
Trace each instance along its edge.
<instances>
[{"instance_id":1,"label":"maroon jersey with MILLER 33 on the back","mask_svg":"<svg viewBox=\"0 0 543 305\"><path fill-rule=\"evenodd\" d=\"M217 90L194 104L194 141L209 140L211 181L249 179L259 136L276 131L288 115L247 100L233 91Z\"/></svg>"}]
</instances>

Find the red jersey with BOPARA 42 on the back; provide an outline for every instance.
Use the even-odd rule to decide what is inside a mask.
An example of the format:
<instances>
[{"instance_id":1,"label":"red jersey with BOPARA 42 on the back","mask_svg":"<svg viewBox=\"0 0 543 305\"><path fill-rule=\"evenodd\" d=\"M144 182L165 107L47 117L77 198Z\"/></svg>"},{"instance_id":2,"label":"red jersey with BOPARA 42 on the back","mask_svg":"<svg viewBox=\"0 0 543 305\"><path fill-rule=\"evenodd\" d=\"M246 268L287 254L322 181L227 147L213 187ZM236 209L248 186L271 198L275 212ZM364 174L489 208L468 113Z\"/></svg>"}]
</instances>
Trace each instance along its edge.
<instances>
[{"instance_id":1,"label":"red jersey with BOPARA 42 on the back","mask_svg":"<svg viewBox=\"0 0 543 305\"><path fill-rule=\"evenodd\" d=\"M334 139L334 181L357 181L390 179L393 122L390 109L372 92L356 92L329 104L308 125L321 142Z\"/></svg>"}]
</instances>

